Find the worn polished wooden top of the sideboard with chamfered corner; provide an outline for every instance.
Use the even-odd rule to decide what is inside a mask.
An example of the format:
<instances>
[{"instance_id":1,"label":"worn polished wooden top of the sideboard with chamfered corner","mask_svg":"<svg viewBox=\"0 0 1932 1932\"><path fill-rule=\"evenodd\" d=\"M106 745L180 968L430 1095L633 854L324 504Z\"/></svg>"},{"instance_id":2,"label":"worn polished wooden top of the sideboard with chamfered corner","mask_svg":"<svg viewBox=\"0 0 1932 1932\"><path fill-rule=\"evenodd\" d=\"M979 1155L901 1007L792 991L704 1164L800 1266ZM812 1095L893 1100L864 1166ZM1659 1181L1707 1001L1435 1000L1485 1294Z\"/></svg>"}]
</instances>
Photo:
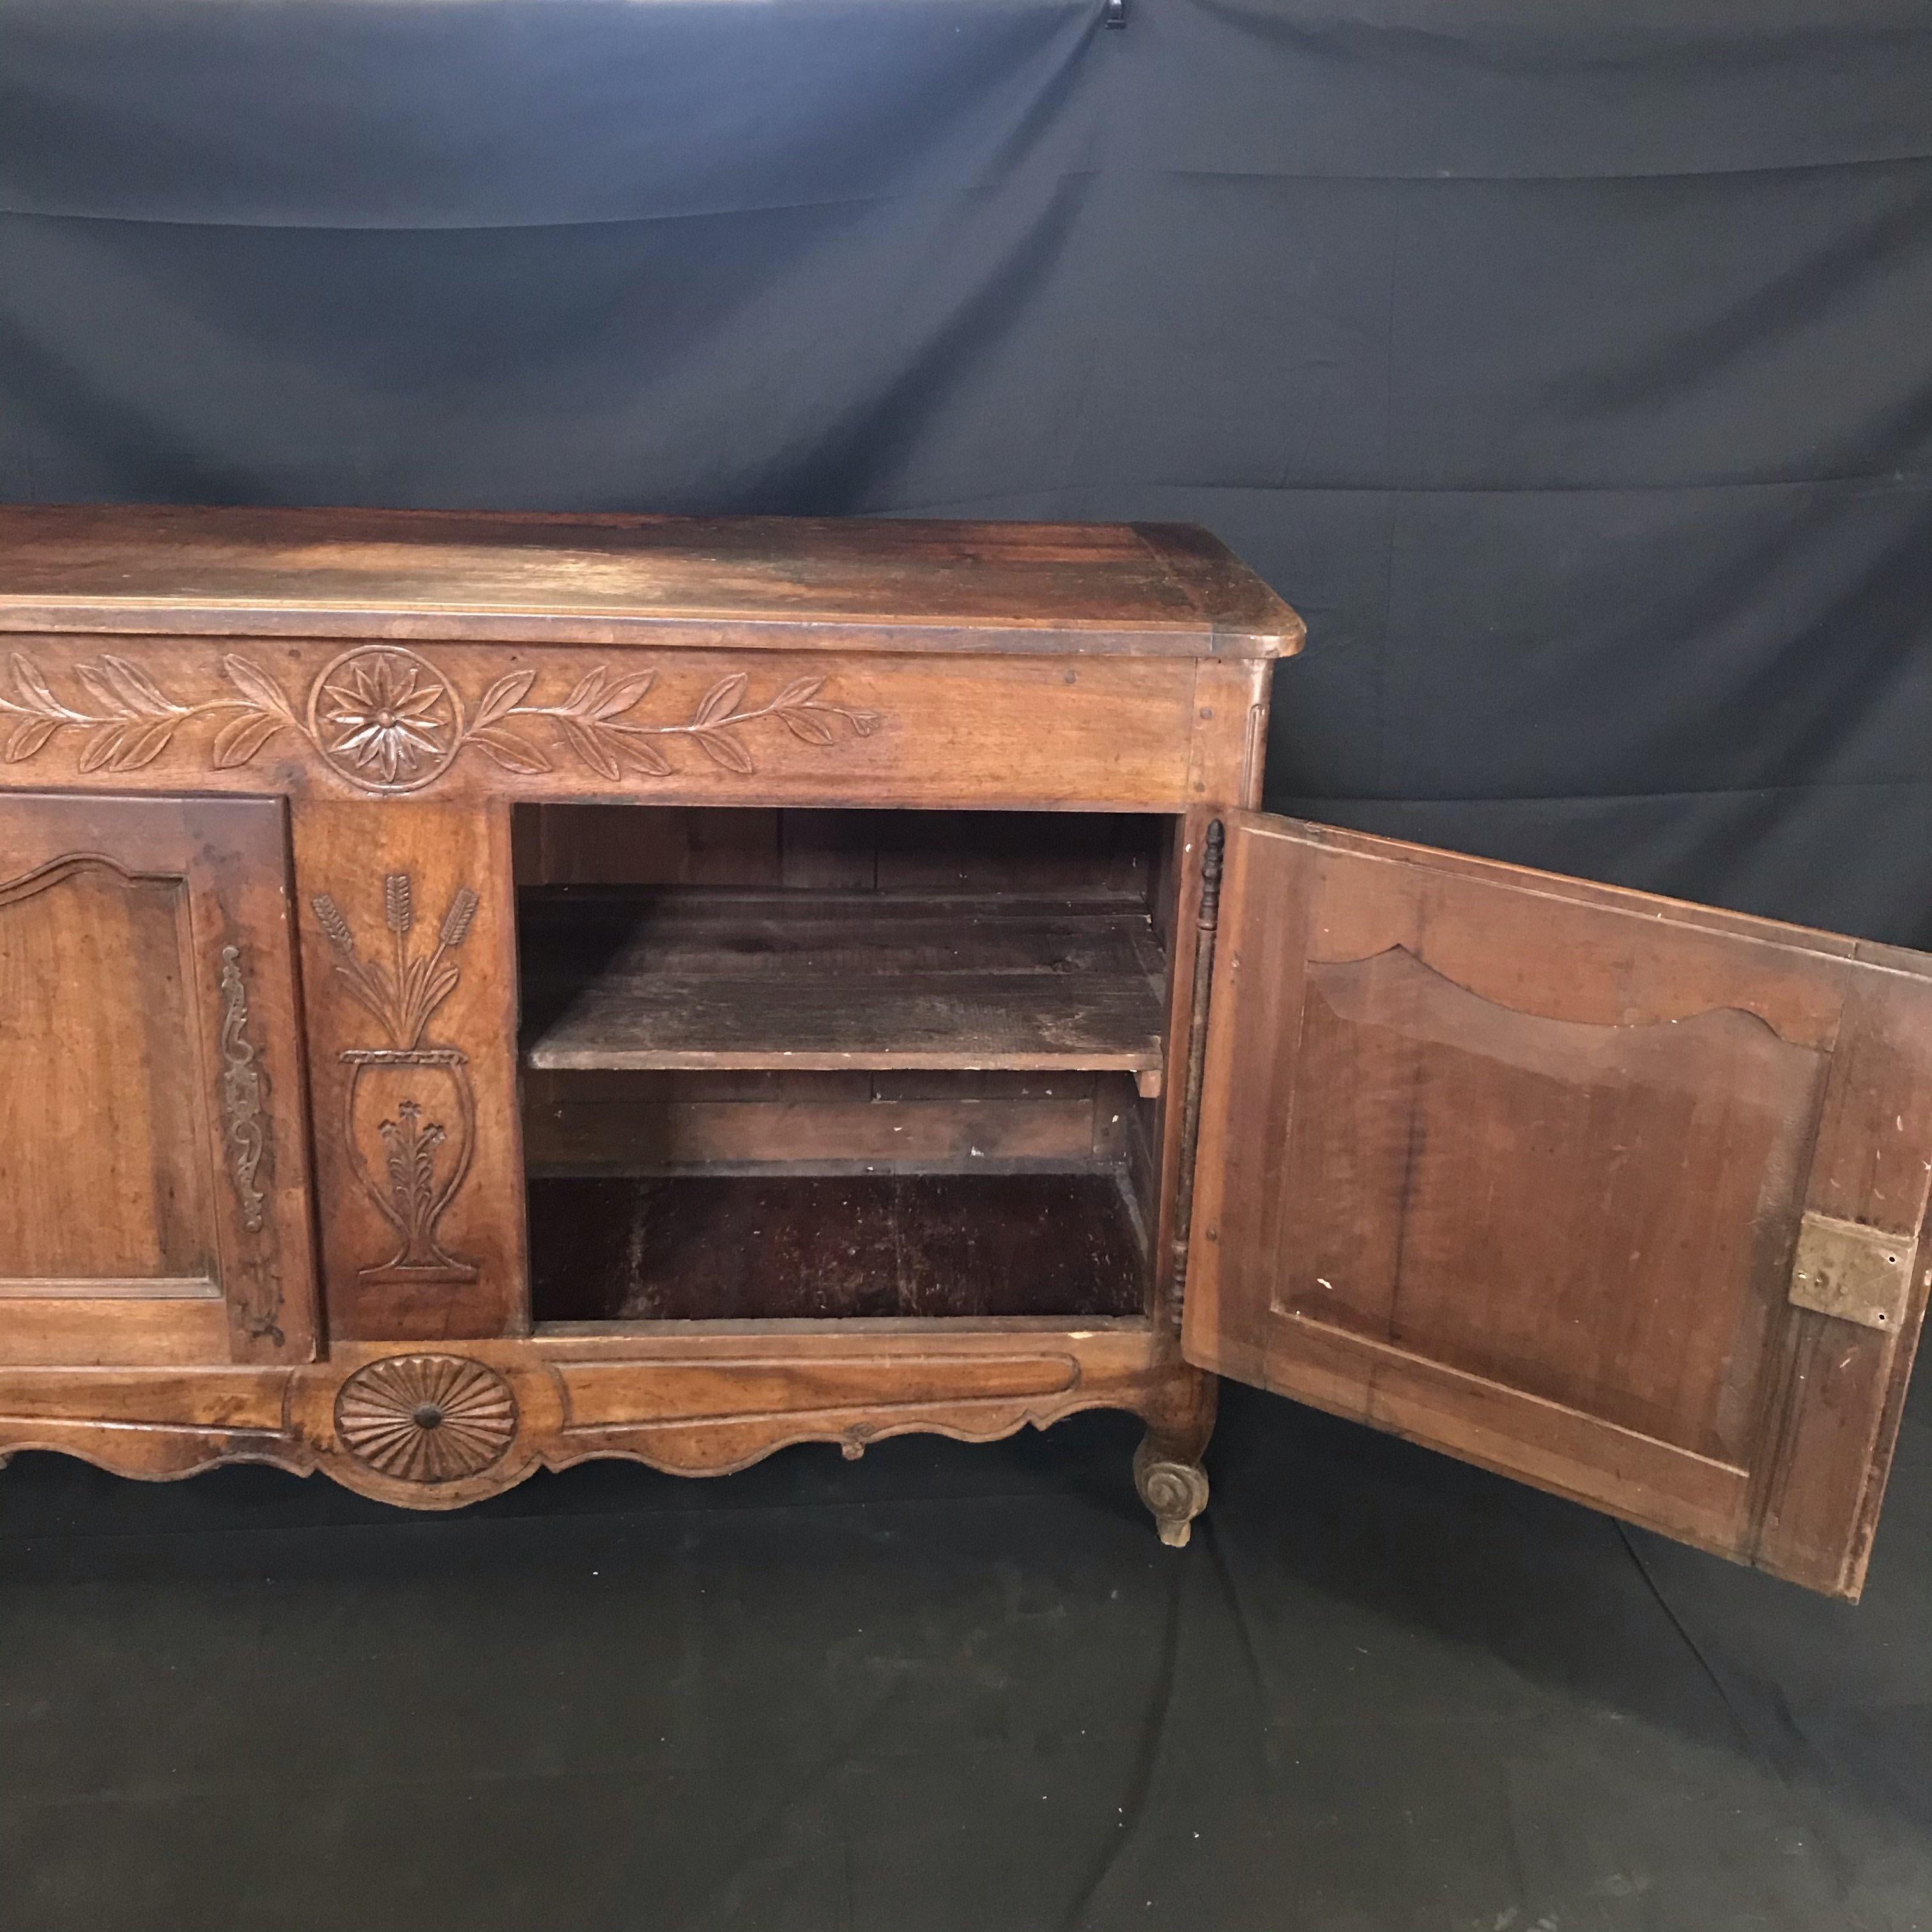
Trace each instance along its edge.
<instances>
[{"instance_id":1,"label":"worn polished wooden top of the sideboard with chamfered corner","mask_svg":"<svg viewBox=\"0 0 1932 1932\"><path fill-rule=\"evenodd\" d=\"M1246 659L1302 641L1186 524L104 504L0 506L0 630Z\"/></svg>"}]
</instances>

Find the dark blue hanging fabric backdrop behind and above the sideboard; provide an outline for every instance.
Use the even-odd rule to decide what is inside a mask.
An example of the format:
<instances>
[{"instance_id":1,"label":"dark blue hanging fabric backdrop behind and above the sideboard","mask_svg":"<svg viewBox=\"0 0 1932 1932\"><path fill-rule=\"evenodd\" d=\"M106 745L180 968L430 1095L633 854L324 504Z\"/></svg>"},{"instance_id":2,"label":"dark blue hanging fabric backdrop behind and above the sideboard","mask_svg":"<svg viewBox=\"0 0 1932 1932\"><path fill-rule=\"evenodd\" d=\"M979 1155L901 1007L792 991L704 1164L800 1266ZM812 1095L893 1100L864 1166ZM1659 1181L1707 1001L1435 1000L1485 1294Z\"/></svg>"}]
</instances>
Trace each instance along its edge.
<instances>
[{"instance_id":1,"label":"dark blue hanging fabric backdrop behind and above the sideboard","mask_svg":"<svg viewBox=\"0 0 1932 1932\"><path fill-rule=\"evenodd\" d=\"M0 0L0 495L1192 518L1269 804L1932 945L1917 0Z\"/></svg>"}]
</instances>

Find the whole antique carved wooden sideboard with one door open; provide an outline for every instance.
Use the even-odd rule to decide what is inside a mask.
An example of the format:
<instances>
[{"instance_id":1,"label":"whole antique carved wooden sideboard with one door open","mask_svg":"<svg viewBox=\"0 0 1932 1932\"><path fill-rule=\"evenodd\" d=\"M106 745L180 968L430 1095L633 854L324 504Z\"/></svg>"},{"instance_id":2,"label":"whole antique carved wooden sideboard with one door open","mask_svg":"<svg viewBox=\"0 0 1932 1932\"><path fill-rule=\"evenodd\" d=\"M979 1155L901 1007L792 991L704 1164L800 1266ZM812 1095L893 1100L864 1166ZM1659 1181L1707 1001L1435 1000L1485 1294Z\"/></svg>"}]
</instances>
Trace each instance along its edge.
<instances>
[{"instance_id":1,"label":"whole antique carved wooden sideboard with one door open","mask_svg":"<svg viewBox=\"0 0 1932 1932\"><path fill-rule=\"evenodd\" d=\"M1204 531L8 508L0 632L0 1461L1119 1406L1179 1544L1235 1376L1857 1596L1932 962L1262 813Z\"/></svg>"}]
</instances>

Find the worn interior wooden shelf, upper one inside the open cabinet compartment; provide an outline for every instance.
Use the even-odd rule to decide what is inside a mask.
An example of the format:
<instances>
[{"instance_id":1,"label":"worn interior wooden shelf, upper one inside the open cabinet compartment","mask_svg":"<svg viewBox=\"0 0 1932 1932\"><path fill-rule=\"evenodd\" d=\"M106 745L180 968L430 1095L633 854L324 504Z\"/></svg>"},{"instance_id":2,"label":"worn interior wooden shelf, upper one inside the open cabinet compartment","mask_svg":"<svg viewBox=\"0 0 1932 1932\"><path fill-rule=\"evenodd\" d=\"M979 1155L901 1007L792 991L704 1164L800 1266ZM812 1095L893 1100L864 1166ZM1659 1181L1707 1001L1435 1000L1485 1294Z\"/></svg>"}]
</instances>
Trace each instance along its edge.
<instances>
[{"instance_id":1,"label":"worn interior wooden shelf, upper one inside the open cabinet compartment","mask_svg":"<svg viewBox=\"0 0 1932 1932\"><path fill-rule=\"evenodd\" d=\"M1078 1068L1159 1092L1140 898L564 887L522 895L520 935L535 1068Z\"/></svg>"}]
</instances>

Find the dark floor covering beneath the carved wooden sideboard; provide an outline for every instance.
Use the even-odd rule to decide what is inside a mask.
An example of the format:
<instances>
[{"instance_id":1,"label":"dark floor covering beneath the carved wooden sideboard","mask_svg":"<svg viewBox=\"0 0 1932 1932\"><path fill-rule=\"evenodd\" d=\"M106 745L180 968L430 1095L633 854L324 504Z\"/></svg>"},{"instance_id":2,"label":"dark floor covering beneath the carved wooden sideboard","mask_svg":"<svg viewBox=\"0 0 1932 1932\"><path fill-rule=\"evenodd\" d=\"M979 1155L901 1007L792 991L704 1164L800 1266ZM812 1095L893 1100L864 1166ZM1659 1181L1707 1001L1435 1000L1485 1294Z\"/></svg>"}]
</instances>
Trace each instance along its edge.
<instances>
[{"instance_id":1,"label":"dark floor covering beneath the carved wooden sideboard","mask_svg":"<svg viewBox=\"0 0 1932 1932\"><path fill-rule=\"evenodd\" d=\"M1173 1553L1132 1441L21 1457L0 1928L1932 1926L1932 1399L1859 1609L1240 1389Z\"/></svg>"}]
</instances>

